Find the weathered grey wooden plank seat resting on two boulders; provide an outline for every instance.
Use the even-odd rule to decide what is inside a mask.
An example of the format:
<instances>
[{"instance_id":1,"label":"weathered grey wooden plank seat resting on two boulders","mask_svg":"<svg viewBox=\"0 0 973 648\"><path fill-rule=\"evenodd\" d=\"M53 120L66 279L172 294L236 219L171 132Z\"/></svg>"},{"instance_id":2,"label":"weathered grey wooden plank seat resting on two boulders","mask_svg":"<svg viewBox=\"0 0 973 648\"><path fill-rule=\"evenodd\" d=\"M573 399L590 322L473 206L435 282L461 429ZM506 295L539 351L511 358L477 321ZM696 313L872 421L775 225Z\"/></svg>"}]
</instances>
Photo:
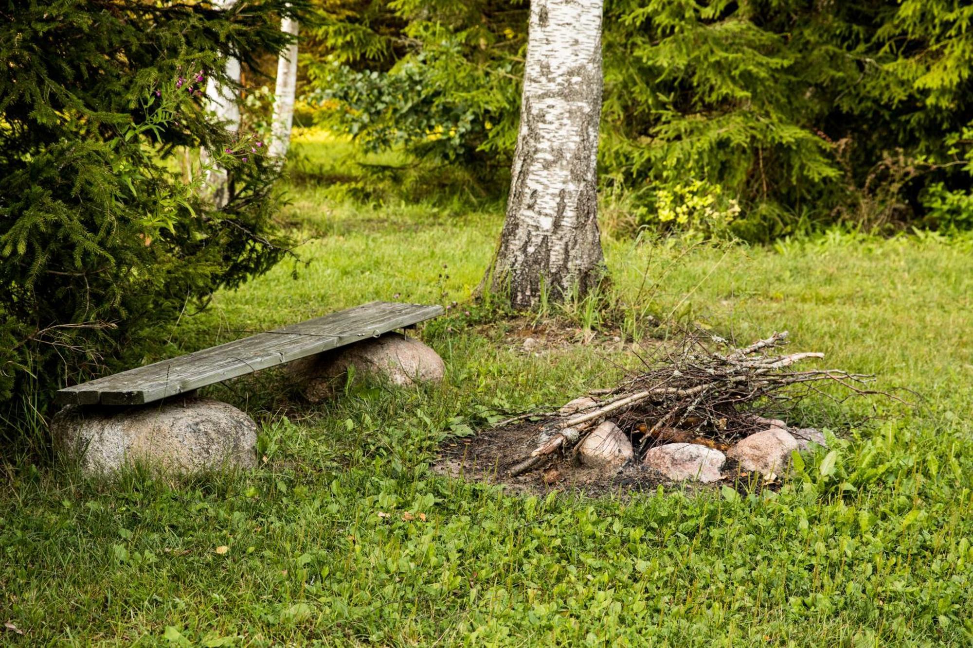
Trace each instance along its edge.
<instances>
[{"instance_id":1,"label":"weathered grey wooden plank seat resting on two boulders","mask_svg":"<svg viewBox=\"0 0 973 648\"><path fill-rule=\"evenodd\" d=\"M140 405L377 337L443 314L442 306L372 302L61 389L60 405Z\"/></svg>"}]
</instances>

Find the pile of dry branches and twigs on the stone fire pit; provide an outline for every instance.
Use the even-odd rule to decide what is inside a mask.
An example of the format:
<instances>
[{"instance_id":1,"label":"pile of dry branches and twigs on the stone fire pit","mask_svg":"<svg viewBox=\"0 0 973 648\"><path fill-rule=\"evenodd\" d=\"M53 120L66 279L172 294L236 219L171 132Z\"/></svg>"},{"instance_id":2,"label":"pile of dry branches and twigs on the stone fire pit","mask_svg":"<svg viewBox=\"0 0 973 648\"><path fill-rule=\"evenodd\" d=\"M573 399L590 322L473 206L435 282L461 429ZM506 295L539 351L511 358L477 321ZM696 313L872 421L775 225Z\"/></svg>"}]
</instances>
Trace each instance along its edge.
<instances>
[{"instance_id":1,"label":"pile of dry branches and twigs on the stone fire pit","mask_svg":"<svg viewBox=\"0 0 973 648\"><path fill-rule=\"evenodd\" d=\"M753 414L756 404L792 401L819 391L816 383L837 383L854 394L878 393L866 388L872 376L837 369L795 371L793 365L824 354L776 353L786 339L784 331L720 353L709 347L725 348L725 341L689 336L680 348L655 362L643 360L644 372L612 389L590 392L592 405L552 414L541 426L537 448L511 469L511 475L531 470L558 451L571 450L609 418L629 432L633 444L637 441L641 456L650 445L679 440L687 430L714 443L745 436L766 421Z\"/></svg>"}]
</instances>

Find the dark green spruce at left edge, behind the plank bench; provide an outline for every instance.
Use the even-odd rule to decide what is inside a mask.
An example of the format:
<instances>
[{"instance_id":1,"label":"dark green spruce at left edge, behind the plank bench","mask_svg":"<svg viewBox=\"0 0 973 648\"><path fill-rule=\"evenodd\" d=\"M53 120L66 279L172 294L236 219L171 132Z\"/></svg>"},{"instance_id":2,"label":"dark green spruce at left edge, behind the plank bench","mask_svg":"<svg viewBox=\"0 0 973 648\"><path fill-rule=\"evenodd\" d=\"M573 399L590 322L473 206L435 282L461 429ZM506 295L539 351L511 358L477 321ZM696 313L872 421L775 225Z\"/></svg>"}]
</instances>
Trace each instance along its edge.
<instances>
[{"instance_id":1,"label":"dark green spruce at left edge, behind the plank bench","mask_svg":"<svg viewBox=\"0 0 973 648\"><path fill-rule=\"evenodd\" d=\"M228 81L228 54L249 63L286 44L270 19L285 7L62 0L3 21L0 414L152 355L160 323L285 253L272 166L202 96L207 75ZM199 146L232 170L222 209L200 198L203 169L174 162Z\"/></svg>"}]
</instances>

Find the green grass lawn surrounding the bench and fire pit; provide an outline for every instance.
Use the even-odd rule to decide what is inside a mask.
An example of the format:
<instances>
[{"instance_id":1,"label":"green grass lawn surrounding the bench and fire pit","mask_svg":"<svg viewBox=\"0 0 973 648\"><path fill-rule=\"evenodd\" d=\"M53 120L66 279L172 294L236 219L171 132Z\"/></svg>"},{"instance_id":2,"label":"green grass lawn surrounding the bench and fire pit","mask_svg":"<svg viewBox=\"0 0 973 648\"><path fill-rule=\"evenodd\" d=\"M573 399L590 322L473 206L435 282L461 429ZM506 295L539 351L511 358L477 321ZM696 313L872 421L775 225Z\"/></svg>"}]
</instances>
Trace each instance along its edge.
<instances>
[{"instance_id":1,"label":"green grass lawn surrounding the bench and fire pit","mask_svg":"<svg viewBox=\"0 0 973 648\"><path fill-rule=\"evenodd\" d=\"M303 150L326 170L351 166L329 147ZM501 209L369 207L342 191L293 191L286 218L321 234L300 248L297 280L284 265L218 295L166 352L396 295L465 307ZM292 405L290 419L259 390L232 391L262 421L256 472L108 484L11 467L0 622L24 634L0 630L0 643L969 645L973 245L834 234L605 247L605 316L671 314L743 342L789 329L828 365L915 389L919 407L805 406L809 422L851 429L833 466L806 457L779 492L507 495L434 475L437 444L606 384L620 358L592 345L527 356L502 323L475 327L485 310L473 308L423 331L447 361L442 385L355 388ZM584 304L569 310L597 323Z\"/></svg>"}]
</instances>

